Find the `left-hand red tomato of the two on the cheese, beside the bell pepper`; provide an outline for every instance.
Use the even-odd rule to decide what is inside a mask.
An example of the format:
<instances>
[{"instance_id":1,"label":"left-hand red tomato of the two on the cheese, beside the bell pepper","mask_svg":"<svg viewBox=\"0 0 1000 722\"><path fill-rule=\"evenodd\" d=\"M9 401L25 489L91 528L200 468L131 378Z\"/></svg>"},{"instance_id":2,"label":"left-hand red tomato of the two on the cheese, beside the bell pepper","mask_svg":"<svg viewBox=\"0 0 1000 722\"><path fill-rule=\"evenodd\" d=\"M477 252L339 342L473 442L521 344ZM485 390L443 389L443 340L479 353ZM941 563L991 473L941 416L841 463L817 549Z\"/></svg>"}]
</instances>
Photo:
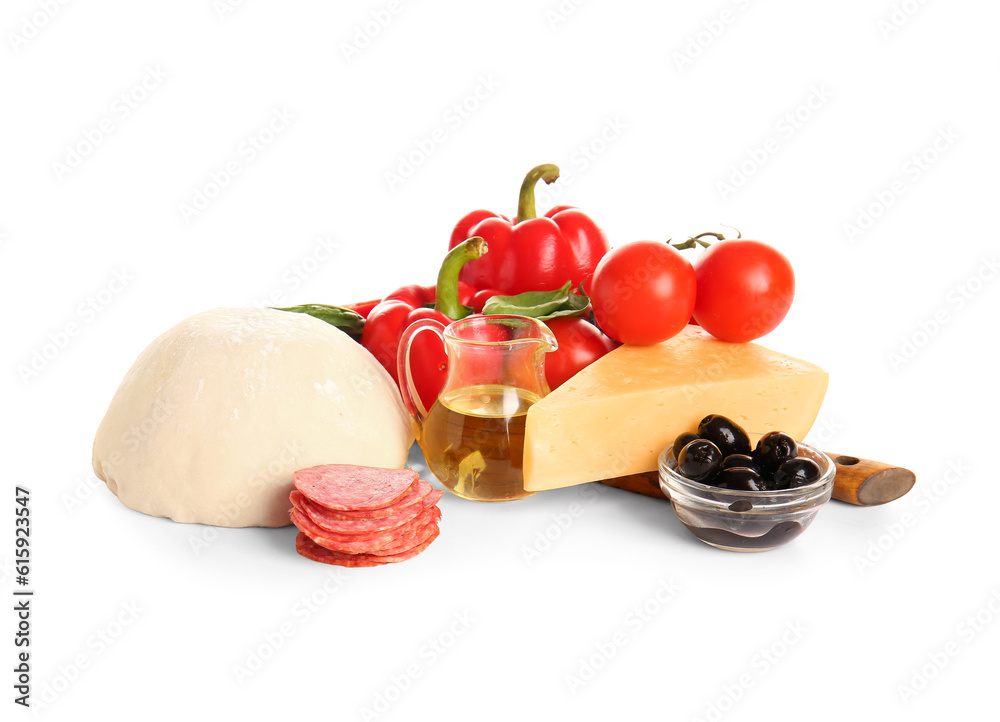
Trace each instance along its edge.
<instances>
[{"instance_id":1,"label":"left-hand red tomato of the two on the cheese, beside the bell pepper","mask_svg":"<svg viewBox=\"0 0 1000 722\"><path fill-rule=\"evenodd\" d=\"M597 264L590 300L605 333L646 346L676 336L687 325L695 288L694 269L677 249L635 241L611 249Z\"/></svg>"}]
</instances>

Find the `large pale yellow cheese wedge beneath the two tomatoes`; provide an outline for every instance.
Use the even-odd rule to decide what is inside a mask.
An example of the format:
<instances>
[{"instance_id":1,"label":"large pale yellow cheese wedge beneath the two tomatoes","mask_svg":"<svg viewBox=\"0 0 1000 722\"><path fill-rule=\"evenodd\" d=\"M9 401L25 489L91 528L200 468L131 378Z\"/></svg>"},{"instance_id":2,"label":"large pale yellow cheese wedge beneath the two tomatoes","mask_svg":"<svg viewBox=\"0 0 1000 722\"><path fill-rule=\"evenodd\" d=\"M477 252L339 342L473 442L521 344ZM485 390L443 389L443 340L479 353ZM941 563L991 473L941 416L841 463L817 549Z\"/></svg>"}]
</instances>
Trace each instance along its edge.
<instances>
[{"instance_id":1,"label":"large pale yellow cheese wedge beneath the two tomatoes","mask_svg":"<svg viewBox=\"0 0 1000 722\"><path fill-rule=\"evenodd\" d=\"M557 489L656 469L660 452L708 414L750 434L802 439L828 376L752 343L718 341L697 326L653 346L620 346L528 410L524 488Z\"/></svg>"}]
</instances>

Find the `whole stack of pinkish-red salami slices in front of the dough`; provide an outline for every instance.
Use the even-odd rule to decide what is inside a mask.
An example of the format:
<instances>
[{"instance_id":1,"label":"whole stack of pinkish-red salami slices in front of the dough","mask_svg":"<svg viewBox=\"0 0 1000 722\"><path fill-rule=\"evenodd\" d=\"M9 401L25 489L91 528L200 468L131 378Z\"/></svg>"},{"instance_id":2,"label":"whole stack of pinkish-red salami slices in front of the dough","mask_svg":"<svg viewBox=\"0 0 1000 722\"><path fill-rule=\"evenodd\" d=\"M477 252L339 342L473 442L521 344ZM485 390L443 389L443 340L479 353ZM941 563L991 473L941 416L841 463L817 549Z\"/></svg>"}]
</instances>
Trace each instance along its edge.
<instances>
[{"instance_id":1,"label":"whole stack of pinkish-red salami slices in front of the dough","mask_svg":"<svg viewBox=\"0 0 1000 722\"><path fill-rule=\"evenodd\" d=\"M342 567L401 562L438 535L443 491L413 469L327 464L292 476L295 548L304 557Z\"/></svg>"}]
</instances>

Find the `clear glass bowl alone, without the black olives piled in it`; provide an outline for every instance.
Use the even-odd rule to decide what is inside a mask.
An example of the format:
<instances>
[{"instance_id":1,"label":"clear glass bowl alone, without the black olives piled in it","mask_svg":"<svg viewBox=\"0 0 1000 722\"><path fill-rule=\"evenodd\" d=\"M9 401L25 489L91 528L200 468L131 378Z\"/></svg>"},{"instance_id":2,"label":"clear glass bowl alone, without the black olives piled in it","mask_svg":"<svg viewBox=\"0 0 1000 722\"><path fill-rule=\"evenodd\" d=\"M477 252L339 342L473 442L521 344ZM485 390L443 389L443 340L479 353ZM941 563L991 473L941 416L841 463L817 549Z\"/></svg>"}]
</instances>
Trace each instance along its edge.
<instances>
[{"instance_id":1,"label":"clear glass bowl alone, without the black olives piled in it","mask_svg":"<svg viewBox=\"0 0 1000 722\"><path fill-rule=\"evenodd\" d=\"M669 446L659 458L660 488L681 523L706 544L734 552L768 551L799 536L833 493L837 467L830 457L805 444L799 444L799 456L819 464L817 481L782 491L735 491L681 476Z\"/></svg>"}]
</instances>

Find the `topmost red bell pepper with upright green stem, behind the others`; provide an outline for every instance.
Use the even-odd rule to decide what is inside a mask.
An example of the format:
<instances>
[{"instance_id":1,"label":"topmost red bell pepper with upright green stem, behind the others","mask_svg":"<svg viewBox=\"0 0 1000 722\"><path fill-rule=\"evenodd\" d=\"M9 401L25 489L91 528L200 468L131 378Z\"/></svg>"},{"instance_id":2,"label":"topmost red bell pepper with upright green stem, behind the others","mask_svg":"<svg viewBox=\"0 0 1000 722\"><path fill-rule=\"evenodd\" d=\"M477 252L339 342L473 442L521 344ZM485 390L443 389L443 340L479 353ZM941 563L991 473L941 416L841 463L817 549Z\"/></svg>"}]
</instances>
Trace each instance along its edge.
<instances>
[{"instance_id":1,"label":"topmost red bell pepper with upright green stem, behind the others","mask_svg":"<svg viewBox=\"0 0 1000 722\"><path fill-rule=\"evenodd\" d=\"M566 281L578 288L593 272L610 245L596 223L582 211L556 206L542 218L535 217L535 184L552 183L559 168L550 164L528 171L521 184L517 218L478 210L458 222L449 248L470 236L482 237L490 254L471 261L461 279L477 288L497 288L506 295L524 291L551 291Z\"/></svg>"}]
</instances>

